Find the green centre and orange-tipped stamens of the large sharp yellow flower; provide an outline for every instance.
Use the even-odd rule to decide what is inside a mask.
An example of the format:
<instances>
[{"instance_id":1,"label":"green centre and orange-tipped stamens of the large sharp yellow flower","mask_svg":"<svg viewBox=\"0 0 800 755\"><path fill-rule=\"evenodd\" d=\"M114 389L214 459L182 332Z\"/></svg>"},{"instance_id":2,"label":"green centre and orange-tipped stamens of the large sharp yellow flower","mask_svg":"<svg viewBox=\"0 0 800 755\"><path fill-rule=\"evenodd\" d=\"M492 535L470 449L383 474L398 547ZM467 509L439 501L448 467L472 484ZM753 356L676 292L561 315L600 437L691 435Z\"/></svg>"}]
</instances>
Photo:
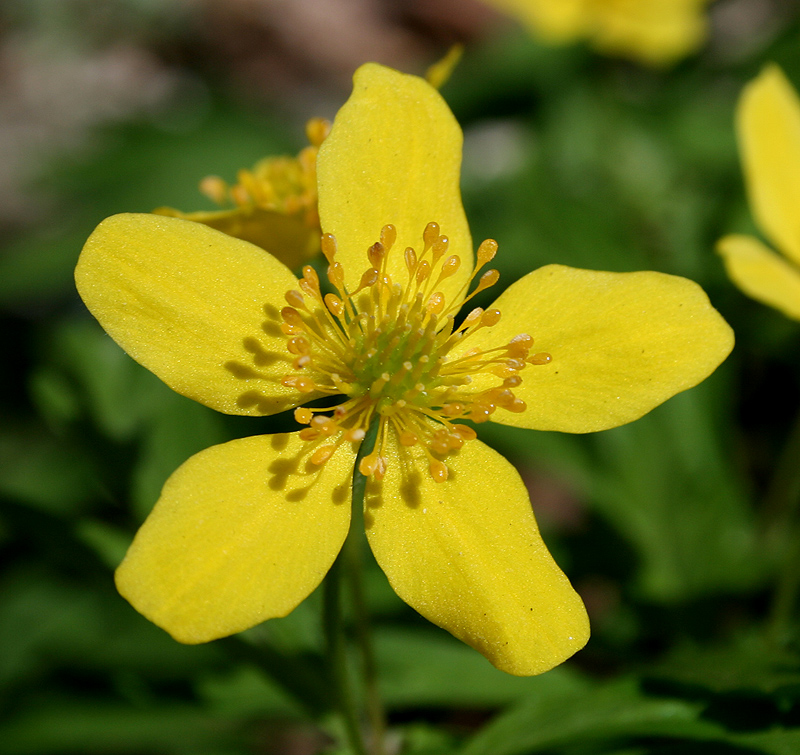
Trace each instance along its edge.
<instances>
[{"instance_id":1,"label":"green centre and orange-tipped stamens of the large sharp yellow flower","mask_svg":"<svg viewBox=\"0 0 800 755\"><path fill-rule=\"evenodd\" d=\"M408 247L403 259L404 281L394 281L387 260L397 237L386 225L380 241L367 251L369 267L357 288L348 291L336 240L322 237L329 267L328 279L338 293L323 294L316 271L306 266L300 290L286 293L289 306L281 312L281 328L293 355L294 371L283 385L301 393L342 395L333 408L300 407L295 419L308 425L300 437L316 444L314 464L324 464L343 442L364 438L373 421L379 423L375 449L363 457L360 470L377 479L386 472L385 439L390 430L402 446L420 444L436 481L448 476L443 458L476 437L468 425L455 420L484 422L498 409L523 412L525 402L514 395L519 374L528 364L546 364L546 353L530 355L533 339L525 333L496 348L463 350L464 340L500 321L497 309L473 309L455 325L461 305L494 285L499 273L487 270L472 293L462 298L478 272L497 253L489 239L478 248L477 266L453 301L447 302L441 283L461 266L447 254L449 240L437 223L428 223L420 254ZM458 356L453 350L459 346ZM474 377L492 375L497 385L471 389Z\"/></svg>"}]
</instances>

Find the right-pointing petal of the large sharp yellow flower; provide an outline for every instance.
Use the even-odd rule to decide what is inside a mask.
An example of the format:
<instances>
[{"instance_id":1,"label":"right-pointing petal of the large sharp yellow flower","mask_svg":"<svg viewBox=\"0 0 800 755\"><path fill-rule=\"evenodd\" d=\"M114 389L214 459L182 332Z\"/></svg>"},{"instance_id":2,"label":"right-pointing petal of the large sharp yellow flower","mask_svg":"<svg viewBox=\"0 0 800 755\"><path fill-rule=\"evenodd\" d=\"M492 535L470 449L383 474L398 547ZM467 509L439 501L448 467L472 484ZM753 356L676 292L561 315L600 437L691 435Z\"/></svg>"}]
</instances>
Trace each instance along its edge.
<instances>
[{"instance_id":1,"label":"right-pointing petal of the large sharp yellow flower","mask_svg":"<svg viewBox=\"0 0 800 755\"><path fill-rule=\"evenodd\" d=\"M519 333L552 361L528 365L514 393L521 414L492 419L536 430L587 433L638 419L708 377L733 348L733 331L696 283L664 273L606 273L547 265L494 303L502 319L467 348ZM475 387L489 387L479 378Z\"/></svg>"}]
</instances>

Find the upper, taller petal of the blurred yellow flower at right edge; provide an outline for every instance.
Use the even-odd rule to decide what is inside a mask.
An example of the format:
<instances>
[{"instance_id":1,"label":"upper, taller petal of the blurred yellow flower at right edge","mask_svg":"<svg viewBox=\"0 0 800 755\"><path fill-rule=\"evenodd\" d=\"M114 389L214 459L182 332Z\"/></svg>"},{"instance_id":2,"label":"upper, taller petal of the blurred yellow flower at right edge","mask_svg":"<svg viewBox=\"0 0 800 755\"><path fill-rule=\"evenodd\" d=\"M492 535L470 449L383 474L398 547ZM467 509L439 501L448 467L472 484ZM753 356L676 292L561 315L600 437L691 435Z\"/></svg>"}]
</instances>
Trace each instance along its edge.
<instances>
[{"instance_id":1,"label":"upper, taller petal of the blurred yellow flower at right edge","mask_svg":"<svg viewBox=\"0 0 800 755\"><path fill-rule=\"evenodd\" d=\"M800 101L778 66L745 87L736 126L753 214L769 240L800 263Z\"/></svg>"}]
</instances>

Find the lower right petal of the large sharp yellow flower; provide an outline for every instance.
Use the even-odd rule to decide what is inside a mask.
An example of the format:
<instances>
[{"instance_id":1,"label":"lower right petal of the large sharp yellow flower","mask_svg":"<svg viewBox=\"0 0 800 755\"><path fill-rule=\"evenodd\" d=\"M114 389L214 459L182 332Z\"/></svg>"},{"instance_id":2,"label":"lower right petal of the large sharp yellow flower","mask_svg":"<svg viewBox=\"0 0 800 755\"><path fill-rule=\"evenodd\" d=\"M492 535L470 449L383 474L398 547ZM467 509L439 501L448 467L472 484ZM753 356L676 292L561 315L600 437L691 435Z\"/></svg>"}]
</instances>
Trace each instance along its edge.
<instances>
[{"instance_id":1,"label":"lower right petal of the large sharp yellow flower","mask_svg":"<svg viewBox=\"0 0 800 755\"><path fill-rule=\"evenodd\" d=\"M586 611L542 542L514 467L474 440L436 483L419 446L401 449L390 433L386 450L365 521L395 592L510 674L541 674L580 650Z\"/></svg>"}]
</instances>

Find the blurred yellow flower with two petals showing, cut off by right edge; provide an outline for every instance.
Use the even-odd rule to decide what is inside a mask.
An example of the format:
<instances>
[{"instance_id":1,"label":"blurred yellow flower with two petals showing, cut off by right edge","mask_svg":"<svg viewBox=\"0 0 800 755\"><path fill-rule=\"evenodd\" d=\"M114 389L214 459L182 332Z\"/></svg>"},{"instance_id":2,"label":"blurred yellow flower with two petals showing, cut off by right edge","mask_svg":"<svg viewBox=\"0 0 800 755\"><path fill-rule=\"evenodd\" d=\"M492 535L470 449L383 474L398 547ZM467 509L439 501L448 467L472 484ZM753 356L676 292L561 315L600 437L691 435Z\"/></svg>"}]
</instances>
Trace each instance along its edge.
<instances>
[{"instance_id":1,"label":"blurred yellow flower with two petals showing, cut off by right edge","mask_svg":"<svg viewBox=\"0 0 800 755\"><path fill-rule=\"evenodd\" d=\"M778 66L745 87L736 130L750 208L784 257L752 236L725 236L717 249L744 293L800 320L800 101Z\"/></svg>"}]
</instances>

